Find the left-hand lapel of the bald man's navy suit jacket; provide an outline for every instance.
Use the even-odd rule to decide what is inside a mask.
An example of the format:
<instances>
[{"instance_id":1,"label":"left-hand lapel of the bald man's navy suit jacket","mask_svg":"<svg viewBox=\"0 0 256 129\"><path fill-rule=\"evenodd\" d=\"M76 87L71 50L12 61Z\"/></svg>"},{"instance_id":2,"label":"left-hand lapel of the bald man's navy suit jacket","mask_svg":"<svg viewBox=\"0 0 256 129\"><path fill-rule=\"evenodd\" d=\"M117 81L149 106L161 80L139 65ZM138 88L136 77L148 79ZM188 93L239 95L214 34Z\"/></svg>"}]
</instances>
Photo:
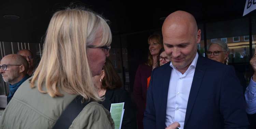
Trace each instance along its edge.
<instances>
[{"instance_id":1,"label":"left-hand lapel of the bald man's navy suit jacket","mask_svg":"<svg viewBox=\"0 0 256 129\"><path fill-rule=\"evenodd\" d=\"M172 71L172 68L170 67L170 62L168 63L168 65L165 65L165 69L163 69L162 74L163 74L163 77L160 81L162 81L162 83L159 83L161 84L162 86L162 90L161 90L161 93L160 93L160 96L161 97L161 108L160 108L160 113L162 116L162 119L161 119L161 125L165 126L165 121L166 121L166 107L167 107L167 98L168 98L168 90L169 90L169 83L170 83L170 77L171 77L171 71Z\"/></svg>"}]
</instances>

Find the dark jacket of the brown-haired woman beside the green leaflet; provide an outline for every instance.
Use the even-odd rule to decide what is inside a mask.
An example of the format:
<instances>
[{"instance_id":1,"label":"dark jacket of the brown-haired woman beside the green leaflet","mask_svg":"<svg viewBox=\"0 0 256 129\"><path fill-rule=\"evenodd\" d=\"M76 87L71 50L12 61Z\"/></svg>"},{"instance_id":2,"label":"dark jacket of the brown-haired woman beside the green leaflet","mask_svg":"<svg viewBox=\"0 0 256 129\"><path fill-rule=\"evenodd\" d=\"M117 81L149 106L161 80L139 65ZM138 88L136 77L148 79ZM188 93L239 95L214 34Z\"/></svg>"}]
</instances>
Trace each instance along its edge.
<instances>
[{"instance_id":1,"label":"dark jacket of the brown-haired woman beside the green leaflet","mask_svg":"<svg viewBox=\"0 0 256 129\"><path fill-rule=\"evenodd\" d=\"M135 112L131 105L131 98L127 91L119 88L114 90L106 90L105 100L102 102L102 105L110 111L111 104L123 102L125 102L125 112L121 129L136 129Z\"/></svg>"}]
</instances>

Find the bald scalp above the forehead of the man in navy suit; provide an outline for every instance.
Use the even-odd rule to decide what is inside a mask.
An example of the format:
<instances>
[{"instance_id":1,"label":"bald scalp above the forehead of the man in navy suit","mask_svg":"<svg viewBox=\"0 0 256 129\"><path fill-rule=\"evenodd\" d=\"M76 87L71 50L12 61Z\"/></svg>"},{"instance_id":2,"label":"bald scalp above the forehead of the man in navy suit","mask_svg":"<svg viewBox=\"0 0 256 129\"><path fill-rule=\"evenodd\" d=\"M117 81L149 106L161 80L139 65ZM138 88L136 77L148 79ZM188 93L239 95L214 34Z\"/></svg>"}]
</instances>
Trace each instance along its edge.
<instances>
[{"instance_id":1,"label":"bald scalp above the forehead of the man in navy suit","mask_svg":"<svg viewBox=\"0 0 256 129\"><path fill-rule=\"evenodd\" d=\"M185 11L171 13L162 25L163 35L170 31L181 31L184 34L194 34L196 36L198 27L195 17Z\"/></svg>"}]
</instances>

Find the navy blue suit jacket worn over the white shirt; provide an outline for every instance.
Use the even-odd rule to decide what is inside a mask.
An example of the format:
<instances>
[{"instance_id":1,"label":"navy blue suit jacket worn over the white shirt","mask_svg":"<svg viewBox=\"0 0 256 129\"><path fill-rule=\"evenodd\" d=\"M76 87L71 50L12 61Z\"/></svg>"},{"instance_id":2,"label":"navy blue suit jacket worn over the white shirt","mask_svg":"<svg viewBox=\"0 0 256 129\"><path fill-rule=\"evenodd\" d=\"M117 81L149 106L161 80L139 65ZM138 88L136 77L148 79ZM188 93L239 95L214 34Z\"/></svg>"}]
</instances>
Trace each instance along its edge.
<instances>
[{"instance_id":1,"label":"navy blue suit jacket worn over the white shirt","mask_svg":"<svg viewBox=\"0 0 256 129\"><path fill-rule=\"evenodd\" d=\"M170 62L152 71L143 125L165 129L172 68ZM232 66L199 55L192 81L184 129L246 129L243 89Z\"/></svg>"}]
</instances>

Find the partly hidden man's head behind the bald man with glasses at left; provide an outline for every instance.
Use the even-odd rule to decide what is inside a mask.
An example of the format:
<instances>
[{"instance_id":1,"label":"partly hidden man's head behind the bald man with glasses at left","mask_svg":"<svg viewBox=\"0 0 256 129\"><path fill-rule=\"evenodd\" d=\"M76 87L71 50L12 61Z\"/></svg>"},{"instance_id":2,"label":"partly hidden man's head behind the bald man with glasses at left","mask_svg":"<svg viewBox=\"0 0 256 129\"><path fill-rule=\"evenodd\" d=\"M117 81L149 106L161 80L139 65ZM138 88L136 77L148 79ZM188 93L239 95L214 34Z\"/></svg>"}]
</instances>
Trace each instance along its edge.
<instances>
[{"instance_id":1,"label":"partly hidden man's head behind the bald man with glasses at left","mask_svg":"<svg viewBox=\"0 0 256 129\"><path fill-rule=\"evenodd\" d=\"M34 72L33 67L33 53L27 49L22 49L17 52L17 54L22 55L28 61L28 75L31 76Z\"/></svg>"}]
</instances>

